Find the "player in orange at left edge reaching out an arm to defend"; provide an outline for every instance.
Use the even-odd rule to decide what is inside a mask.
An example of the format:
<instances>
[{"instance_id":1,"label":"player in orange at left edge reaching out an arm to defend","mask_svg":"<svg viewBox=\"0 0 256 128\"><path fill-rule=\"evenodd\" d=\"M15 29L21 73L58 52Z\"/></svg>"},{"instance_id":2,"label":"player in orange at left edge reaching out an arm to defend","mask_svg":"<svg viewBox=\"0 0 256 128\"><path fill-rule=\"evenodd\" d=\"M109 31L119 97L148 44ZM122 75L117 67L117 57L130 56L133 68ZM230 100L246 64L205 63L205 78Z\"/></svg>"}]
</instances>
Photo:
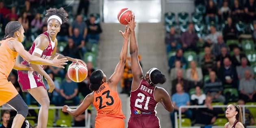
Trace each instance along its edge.
<instances>
[{"instance_id":1,"label":"player in orange at left edge reaching out an arm to defend","mask_svg":"<svg viewBox=\"0 0 256 128\"><path fill-rule=\"evenodd\" d=\"M20 54L22 58L34 64L53 65L56 67L63 67L61 65L67 64L65 63L67 62L66 59L58 60L58 56L50 61L29 54L22 46L23 39L24 29L22 25L19 22L11 21L5 27L4 38L0 41L0 106L7 103L17 111L11 128L20 128L22 126L24 119L28 115L28 106L12 83L8 82L7 77L13 68L33 71L31 67L15 63L17 55Z\"/></svg>"}]
</instances>

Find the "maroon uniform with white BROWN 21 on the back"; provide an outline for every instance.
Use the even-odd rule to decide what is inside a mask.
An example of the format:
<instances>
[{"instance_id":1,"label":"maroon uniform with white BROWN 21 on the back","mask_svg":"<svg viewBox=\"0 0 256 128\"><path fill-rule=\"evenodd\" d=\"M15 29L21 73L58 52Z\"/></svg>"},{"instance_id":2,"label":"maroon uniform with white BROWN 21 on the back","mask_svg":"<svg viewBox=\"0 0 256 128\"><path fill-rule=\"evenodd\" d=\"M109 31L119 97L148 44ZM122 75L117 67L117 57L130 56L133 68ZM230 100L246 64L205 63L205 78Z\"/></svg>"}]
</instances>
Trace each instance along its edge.
<instances>
[{"instance_id":1,"label":"maroon uniform with white BROWN 21 on the back","mask_svg":"<svg viewBox=\"0 0 256 128\"><path fill-rule=\"evenodd\" d=\"M155 89L156 86L142 79L139 87L131 91L131 117L128 121L128 128L160 128L159 119L156 117Z\"/></svg>"}]
</instances>

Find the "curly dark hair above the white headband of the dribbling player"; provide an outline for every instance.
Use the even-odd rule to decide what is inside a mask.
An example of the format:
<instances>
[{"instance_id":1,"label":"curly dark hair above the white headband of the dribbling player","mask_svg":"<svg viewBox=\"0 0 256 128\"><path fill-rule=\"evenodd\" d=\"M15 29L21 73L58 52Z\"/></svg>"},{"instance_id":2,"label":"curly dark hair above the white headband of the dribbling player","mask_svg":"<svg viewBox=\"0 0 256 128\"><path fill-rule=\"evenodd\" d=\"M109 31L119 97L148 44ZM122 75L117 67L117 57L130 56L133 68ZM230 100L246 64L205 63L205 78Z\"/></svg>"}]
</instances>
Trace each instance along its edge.
<instances>
[{"instance_id":1,"label":"curly dark hair above the white headband of the dribbling player","mask_svg":"<svg viewBox=\"0 0 256 128\"><path fill-rule=\"evenodd\" d=\"M46 19L48 19L50 16L52 15L57 15L61 18L62 20L62 24L67 22L67 17L68 14L66 13L66 11L64 10L63 7L56 9L56 8L50 8L48 10L46 10Z\"/></svg>"}]
</instances>

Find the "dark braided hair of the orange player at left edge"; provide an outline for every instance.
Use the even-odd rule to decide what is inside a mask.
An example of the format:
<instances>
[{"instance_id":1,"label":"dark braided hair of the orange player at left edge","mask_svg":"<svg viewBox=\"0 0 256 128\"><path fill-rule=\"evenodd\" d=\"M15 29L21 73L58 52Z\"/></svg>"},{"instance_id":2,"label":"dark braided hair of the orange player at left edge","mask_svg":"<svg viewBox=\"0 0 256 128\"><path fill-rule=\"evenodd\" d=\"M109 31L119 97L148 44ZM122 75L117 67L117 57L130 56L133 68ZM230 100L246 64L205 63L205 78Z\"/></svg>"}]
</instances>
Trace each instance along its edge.
<instances>
[{"instance_id":1,"label":"dark braided hair of the orange player at left edge","mask_svg":"<svg viewBox=\"0 0 256 128\"><path fill-rule=\"evenodd\" d=\"M4 30L5 35L2 40L13 37L14 33L17 30L19 30L21 27L22 27L22 25L17 21L8 22L8 24L5 26L5 30Z\"/></svg>"}]
</instances>

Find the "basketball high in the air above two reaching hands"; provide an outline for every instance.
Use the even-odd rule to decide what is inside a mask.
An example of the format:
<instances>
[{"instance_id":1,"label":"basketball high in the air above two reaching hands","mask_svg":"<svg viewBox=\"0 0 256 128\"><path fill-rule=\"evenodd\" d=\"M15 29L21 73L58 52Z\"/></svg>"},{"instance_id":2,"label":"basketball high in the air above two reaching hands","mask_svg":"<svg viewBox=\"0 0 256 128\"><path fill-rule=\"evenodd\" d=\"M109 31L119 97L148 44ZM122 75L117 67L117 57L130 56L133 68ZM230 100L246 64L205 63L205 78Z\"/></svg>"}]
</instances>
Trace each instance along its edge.
<instances>
[{"instance_id":1,"label":"basketball high in the air above two reaching hands","mask_svg":"<svg viewBox=\"0 0 256 128\"><path fill-rule=\"evenodd\" d=\"M123 25L127 25L128 22L130 22L130 16L132 16L132 11L128 8L124 8L124 9L121 9L121 11L118 13L117 15L117 20L123 24ZM126 20L128 21L126 21Z\"/></svg>"}]
</instances>

